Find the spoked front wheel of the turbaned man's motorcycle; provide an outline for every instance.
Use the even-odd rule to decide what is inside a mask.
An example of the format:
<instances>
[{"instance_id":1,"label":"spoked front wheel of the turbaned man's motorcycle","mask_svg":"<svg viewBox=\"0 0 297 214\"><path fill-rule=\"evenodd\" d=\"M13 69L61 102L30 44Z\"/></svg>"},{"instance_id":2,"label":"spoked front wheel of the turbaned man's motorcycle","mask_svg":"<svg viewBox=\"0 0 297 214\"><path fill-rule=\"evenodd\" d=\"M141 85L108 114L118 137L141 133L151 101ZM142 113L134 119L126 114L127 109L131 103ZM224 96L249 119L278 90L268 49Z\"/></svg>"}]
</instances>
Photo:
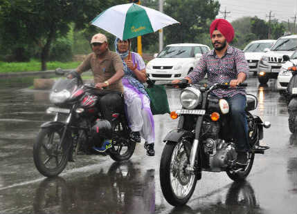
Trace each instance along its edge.
<instances>
[{"instance_id":1,"label":"spoked front wheel of the turbaned man's motorcycle","mask_svg":"<svg viewBox=\"0 0 297 214\"><path fill-rule=\"evenodd\" d=\"M160 162L160 183L163 195L172 206L182 206L190 200L197 183L197 174L186 173L190 159L190 143L167 142Z\"/></svg>"}]
</instances>

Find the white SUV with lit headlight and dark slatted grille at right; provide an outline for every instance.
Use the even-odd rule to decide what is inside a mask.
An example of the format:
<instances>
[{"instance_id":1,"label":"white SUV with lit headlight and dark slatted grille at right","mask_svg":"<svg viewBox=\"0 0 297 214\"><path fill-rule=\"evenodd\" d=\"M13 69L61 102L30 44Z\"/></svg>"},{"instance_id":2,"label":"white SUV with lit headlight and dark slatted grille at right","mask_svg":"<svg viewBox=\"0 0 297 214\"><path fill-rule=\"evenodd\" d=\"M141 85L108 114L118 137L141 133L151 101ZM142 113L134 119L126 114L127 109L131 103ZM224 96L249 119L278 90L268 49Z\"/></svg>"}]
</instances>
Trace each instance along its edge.
<instances>
[{"instance_id":1,"label":"white SUV with lit headlight and dark slatted grille at right","mask_svg":"<svg viewBox=\"0 0 297 214\"><path fill-rule=\"evenodd\" d=\"M264 52L258 64L258 80L260 84L267 84L269 79L277 79L282 64L283 55L289 57L297 49L297 35L280 37L269 52Z\"/></svg>"}]
</instances>

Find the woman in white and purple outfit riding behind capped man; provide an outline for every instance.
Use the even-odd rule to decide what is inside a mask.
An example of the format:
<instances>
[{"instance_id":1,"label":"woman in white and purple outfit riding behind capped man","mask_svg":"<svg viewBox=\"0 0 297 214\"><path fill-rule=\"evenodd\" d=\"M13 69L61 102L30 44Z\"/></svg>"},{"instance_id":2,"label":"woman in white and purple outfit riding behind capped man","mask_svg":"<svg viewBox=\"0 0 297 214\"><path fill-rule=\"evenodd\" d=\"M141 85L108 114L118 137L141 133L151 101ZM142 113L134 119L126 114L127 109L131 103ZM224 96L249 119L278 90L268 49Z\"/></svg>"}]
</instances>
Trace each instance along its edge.
<instances>
[{"instance_id":1,"label":"woman in white and purple outfit riding behind capped man","mask_svg":"<svg viewBox=\"0 0 297 214\"><path fill-rule=\"evenodd\" d=\"M150 109L150 97L143 83L147 80L145 62L141 55L130 52L130 40L116 39L115 48L123 60L125 75L122 79L124 99L129 127L132 130L131 139L141 142L145 139L147 155L154 156L154 117Z\"/></svg>"}]
</instances>

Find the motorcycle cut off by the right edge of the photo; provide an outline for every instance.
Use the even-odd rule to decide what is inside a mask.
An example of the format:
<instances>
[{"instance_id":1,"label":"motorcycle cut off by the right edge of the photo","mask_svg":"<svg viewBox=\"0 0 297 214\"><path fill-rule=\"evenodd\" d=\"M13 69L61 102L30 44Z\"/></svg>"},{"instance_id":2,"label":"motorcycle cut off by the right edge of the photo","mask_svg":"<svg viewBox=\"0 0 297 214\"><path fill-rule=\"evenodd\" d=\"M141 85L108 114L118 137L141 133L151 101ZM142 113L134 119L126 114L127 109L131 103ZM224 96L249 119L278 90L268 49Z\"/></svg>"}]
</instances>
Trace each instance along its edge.
<instances>
[{"instance_id":1,"label":"motorcycle cut off by the right edge of the photo","mask_svg":"<svg viewBox=\"0 0 297 214\"><path fill-rule=\"evenodd\" d=\"M283 61L290 61L288 55L282 56ZM287 101L288 113L289 113L289 130L291 133L296 133L297 130L297 71L296 64L291 61L293 66L288 68L288 72L291 72L292 77L287 86L285 97Z\"/></svg>"}]
</instances>

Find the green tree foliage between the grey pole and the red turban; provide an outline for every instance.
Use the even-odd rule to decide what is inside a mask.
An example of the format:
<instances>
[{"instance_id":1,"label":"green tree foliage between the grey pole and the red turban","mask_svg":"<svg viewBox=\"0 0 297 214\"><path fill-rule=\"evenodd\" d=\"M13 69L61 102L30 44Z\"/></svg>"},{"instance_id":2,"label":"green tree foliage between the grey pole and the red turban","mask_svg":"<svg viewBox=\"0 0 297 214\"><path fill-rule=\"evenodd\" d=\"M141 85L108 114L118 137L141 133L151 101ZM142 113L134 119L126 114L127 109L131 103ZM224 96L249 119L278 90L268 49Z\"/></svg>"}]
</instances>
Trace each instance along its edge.
<instances>
[{"instance_id":1,"label":"green tree foliage between the grey pole and the red turban","mask_svg":"<svg viewBox=\"0 0 297 214\"><path fill-rule=\"evenodd\" d=\"M208 32L209 25L206 22L217 16L219 1L167 0L164 12L181 23L165 28L165 43L195 42L197 35Z\"/></svg>"}]
</instances>

